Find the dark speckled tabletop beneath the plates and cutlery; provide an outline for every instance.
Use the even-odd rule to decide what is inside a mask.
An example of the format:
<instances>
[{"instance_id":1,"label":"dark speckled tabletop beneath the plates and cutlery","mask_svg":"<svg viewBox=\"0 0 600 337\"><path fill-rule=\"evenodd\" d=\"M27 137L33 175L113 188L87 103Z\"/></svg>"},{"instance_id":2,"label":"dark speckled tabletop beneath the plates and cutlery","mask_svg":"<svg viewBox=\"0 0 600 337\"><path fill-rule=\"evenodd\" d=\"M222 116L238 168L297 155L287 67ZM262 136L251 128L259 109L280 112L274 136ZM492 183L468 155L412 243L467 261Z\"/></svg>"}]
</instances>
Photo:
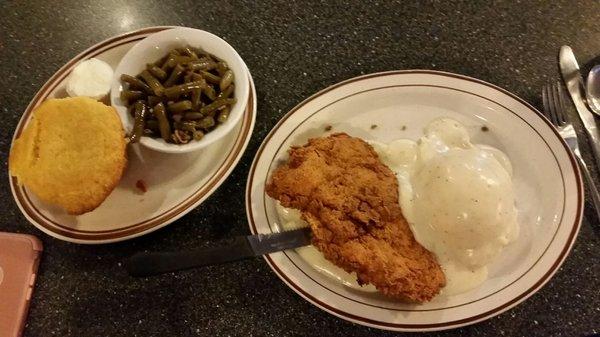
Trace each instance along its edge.
<instances>
[{"instance_id":1,"label":"dark speckled tabletop beneath the plates and cutlery","mask_svg":"<svg viewBox=\"0 0 600 337\"><path fill-rule=\"evenodd\" d=\"M285 112L331 84L384 70L439 69L494 83L540 107L541 86L558 79L561 45L571 45L582 63L600 55L597 1L493 3L0 2L0 230L37 235L45 245L25 336L395 335L310 305L261 259L148 280L129 278L119 262L143 249L199 247L248 233L243 192L254 152ZM8 186L8 151L21 113L48 77L83 49L155 25L211 31L248 64L259 114L243 159L200 207L150 235L84 246L43 234L21 215ZM583 149L597 177L589 146ZM432 335L595 332L600 224L588 210L570 256L542 290L499 317Z\"/></svg>"}]
</instances>

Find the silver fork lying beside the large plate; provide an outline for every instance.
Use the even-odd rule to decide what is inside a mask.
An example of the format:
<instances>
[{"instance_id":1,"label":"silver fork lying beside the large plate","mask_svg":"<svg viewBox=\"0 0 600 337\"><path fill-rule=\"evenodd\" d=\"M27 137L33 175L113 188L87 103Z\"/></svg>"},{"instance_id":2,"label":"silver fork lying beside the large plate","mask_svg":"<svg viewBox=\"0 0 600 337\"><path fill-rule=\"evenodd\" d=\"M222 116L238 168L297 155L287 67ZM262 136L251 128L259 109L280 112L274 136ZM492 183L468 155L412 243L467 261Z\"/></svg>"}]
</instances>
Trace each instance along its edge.
<instances>
[{"instance_id":1,"label":"silver fork lying beside the large plate","mask_svg":"<svg viewBox=\"0 0 600 337\"><path fill-rule=\"evenodd\" d=\"M590 188L592 201L596 208L596 216L600 219L600 194L598 194L598 189L592 180L592 175L590 174L585 161L583 161L583 158L581 157L581 152L579 152L577 133L575 133L575 128L573 128L573 124L567 119L565 113L565 101L565 94L559 82L548 83L542 88L544 115L552 122L552 124L554 124L560 136L565 140L575 155L579 167L581 168L581 171L583 171L587 185Z\"/></svg>"}]
</instances>

